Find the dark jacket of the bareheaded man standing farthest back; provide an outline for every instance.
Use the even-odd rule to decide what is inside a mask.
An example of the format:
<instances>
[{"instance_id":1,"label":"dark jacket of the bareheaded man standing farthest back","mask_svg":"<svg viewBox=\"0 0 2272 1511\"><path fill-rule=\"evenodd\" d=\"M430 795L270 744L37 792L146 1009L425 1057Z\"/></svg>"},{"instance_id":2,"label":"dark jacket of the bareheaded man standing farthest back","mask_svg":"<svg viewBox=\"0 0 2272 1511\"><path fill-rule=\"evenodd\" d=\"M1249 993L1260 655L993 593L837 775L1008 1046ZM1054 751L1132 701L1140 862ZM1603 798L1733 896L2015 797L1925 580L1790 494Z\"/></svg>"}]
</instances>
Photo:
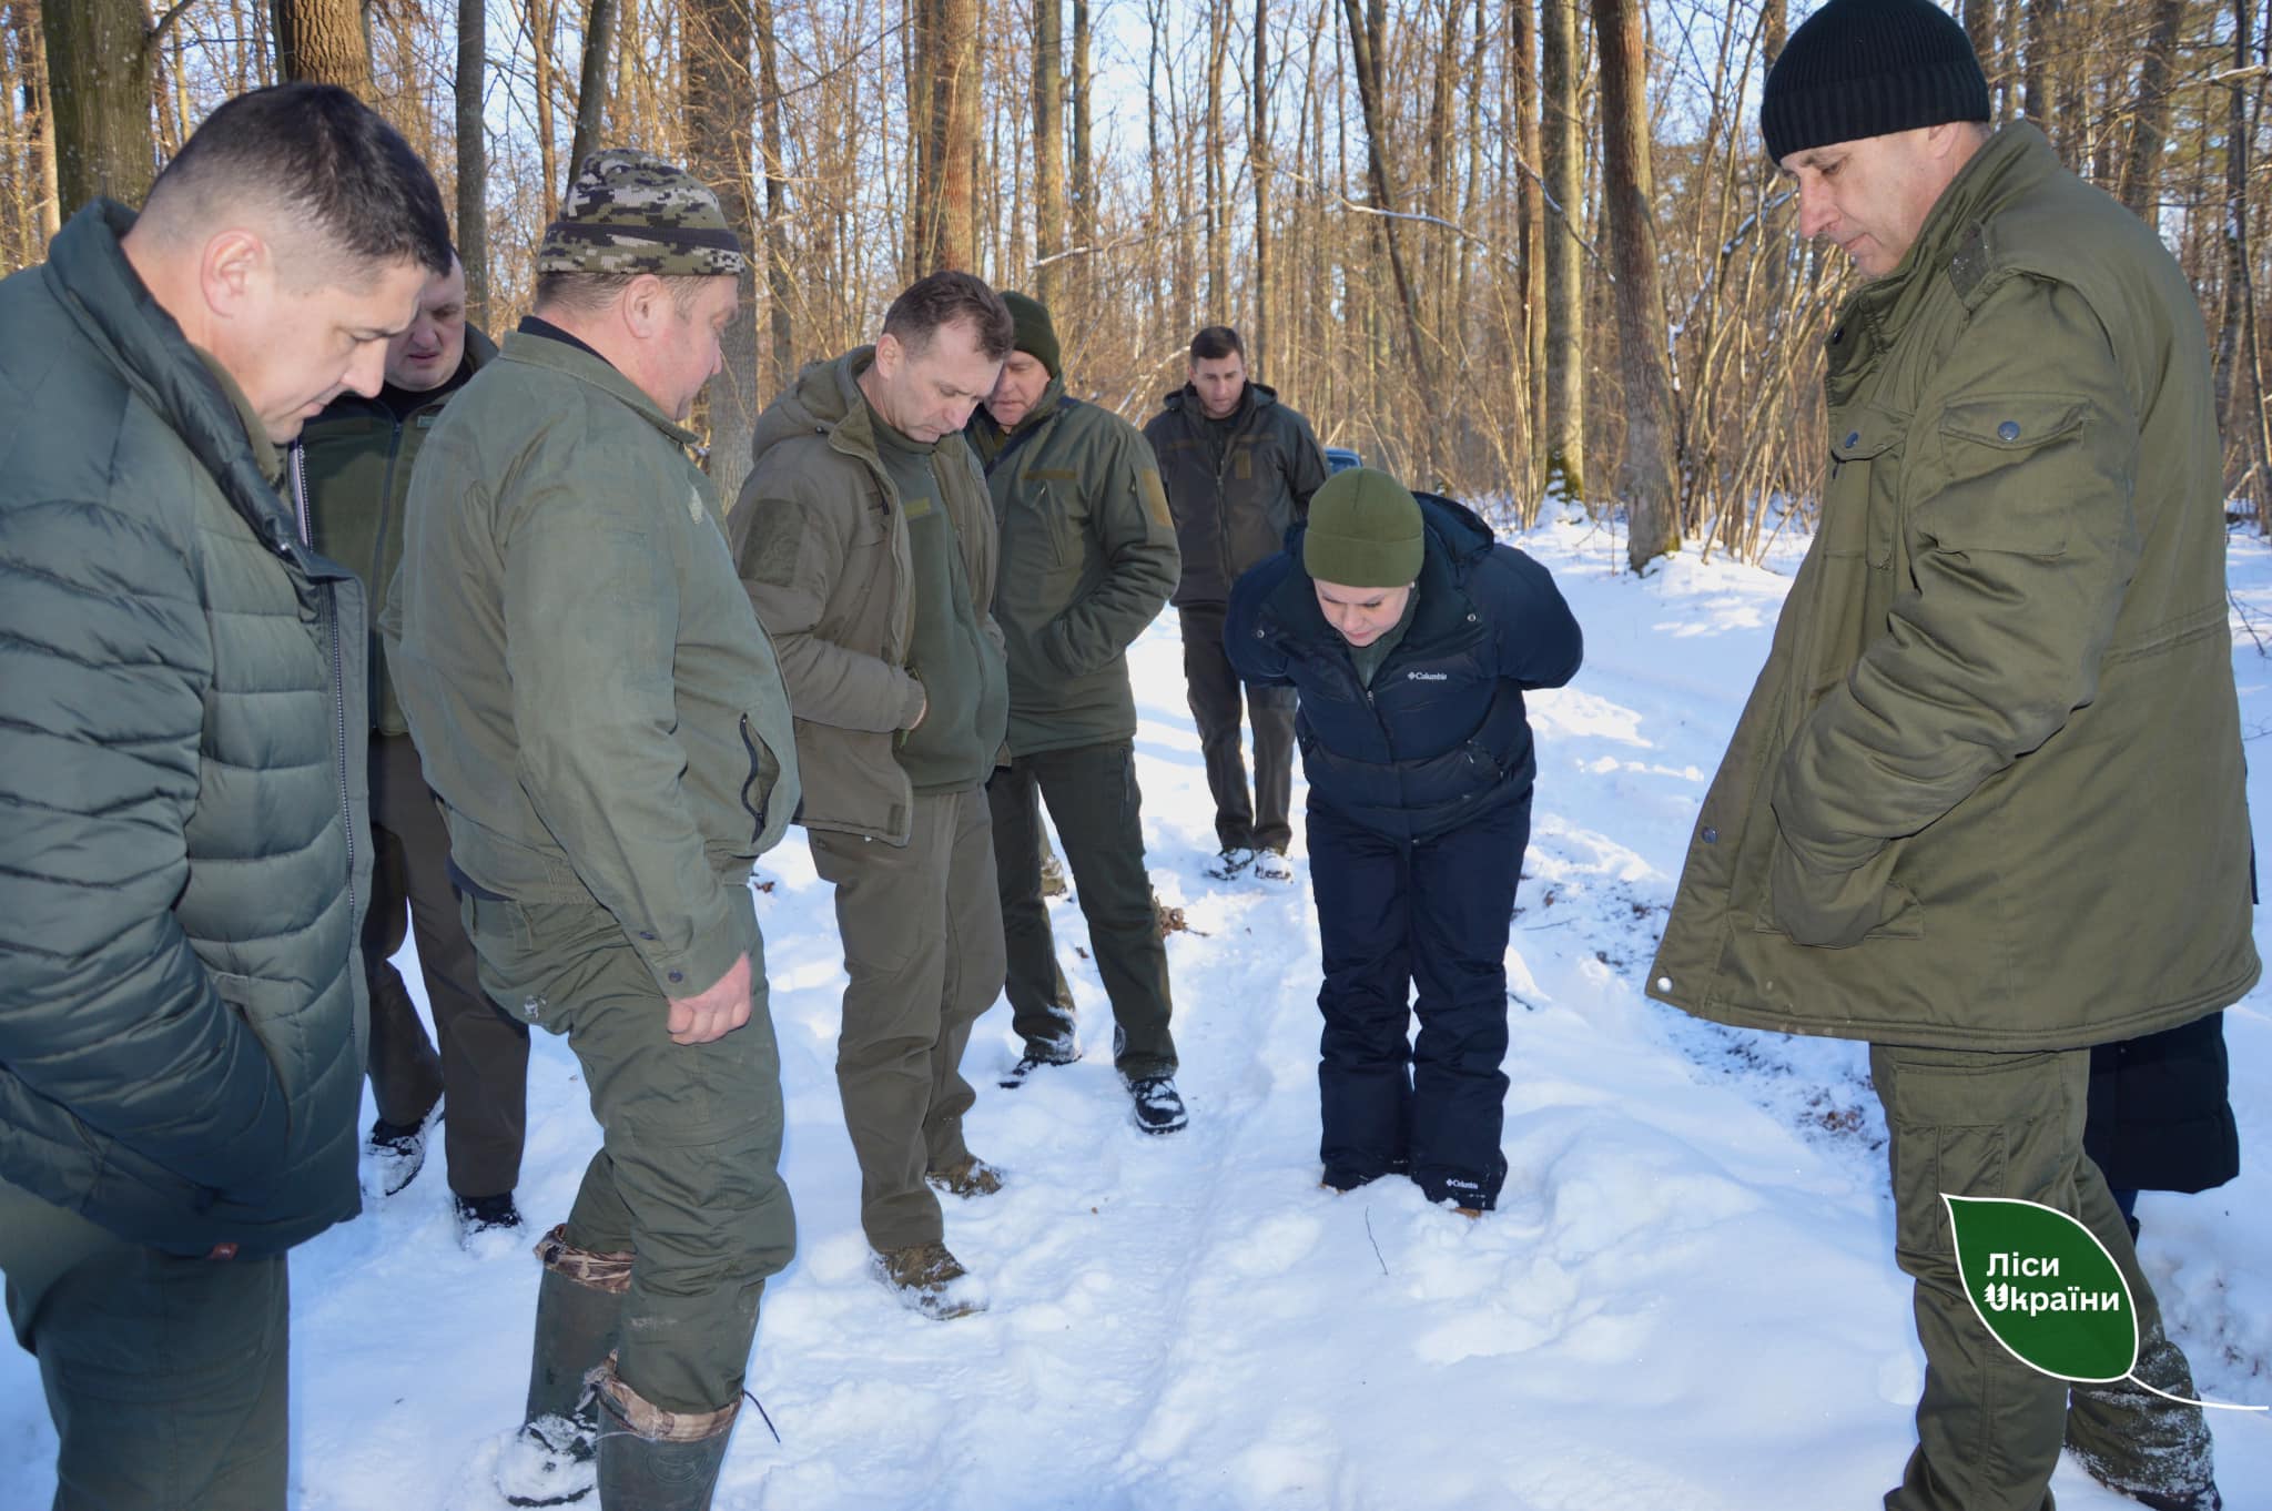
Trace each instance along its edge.
<instances>
[{"instance_id":1,"label":"dark jacket of the bareheaded man standing farthest back","mask_svg":"<svg viewBox=\"0 0 2272 1511\"><path fill-rule=\"evenodd\" d=\"M1325 452L1309 420L1266 384L1247 384L1220 457L1191 384L1161 404L1143 436L1159 457L1159 479L1168 489L1184 552L1175 607L1220 607L1231 600L1238 575L1279 554L1286 529L1309 516L1309 495L1325 484Z\"/></svg>"}]
</instances>

